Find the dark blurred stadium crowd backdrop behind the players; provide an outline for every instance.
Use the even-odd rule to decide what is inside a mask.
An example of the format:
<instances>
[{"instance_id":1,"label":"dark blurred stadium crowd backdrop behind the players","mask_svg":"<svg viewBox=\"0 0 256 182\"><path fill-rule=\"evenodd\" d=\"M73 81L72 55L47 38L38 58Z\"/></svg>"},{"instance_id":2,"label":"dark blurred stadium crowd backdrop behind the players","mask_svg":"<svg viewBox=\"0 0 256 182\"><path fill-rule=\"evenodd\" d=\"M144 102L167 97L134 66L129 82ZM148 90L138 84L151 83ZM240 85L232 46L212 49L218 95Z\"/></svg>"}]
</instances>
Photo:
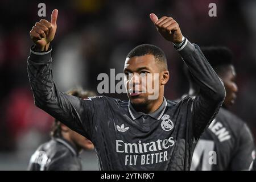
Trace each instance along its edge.
<instances>
[{"instance_id":1,"label":"dark blurred stadium crowd backdrop behind the players","mask_svg":"<svg viewBox=\"0 0 256 182\"><path fill-rule=\"evenodd\" d=\"M256 137L256 1L14 1L1 0L0 23L0 170L26 170L39 144L49 139L53 119L36 108L26 70L32 46L29 32L40 17L59 9L53 46L53 77L62 92L81 85L97 92L99 73L122 72L127 53L138 44L155 44L166 52L171 80L165 96L181 97L188 90L183 61L155 31L149 14L174 17L183 35L199 46L227 46L234 52L238 97L231 108ZM209 17L208 5L217 5ZM125 94L109 94L127 99ZM84 170L97 170L94 152L81 155Z\"/></svg>"}]
</instances>

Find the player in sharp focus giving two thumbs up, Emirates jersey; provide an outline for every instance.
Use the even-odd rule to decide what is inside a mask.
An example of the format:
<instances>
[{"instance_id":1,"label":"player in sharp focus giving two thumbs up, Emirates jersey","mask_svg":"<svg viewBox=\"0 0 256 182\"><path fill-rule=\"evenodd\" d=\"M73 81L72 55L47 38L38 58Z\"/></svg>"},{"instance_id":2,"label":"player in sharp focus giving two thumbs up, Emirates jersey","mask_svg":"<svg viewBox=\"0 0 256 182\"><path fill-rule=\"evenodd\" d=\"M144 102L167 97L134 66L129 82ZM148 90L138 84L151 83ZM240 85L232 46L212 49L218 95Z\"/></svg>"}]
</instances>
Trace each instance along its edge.
<instances>
[{"instance_id":1,"label":"player in sharp focus giving two thumbs up, Emirates jersey","mask_svg":"<svg viewBox=\"0 0 256 182\"><path fill-rule=\"evenodd\" d=\"M196 97L179 103L164 98L169 80L166 56L150 44L135 47L126 57L129 101L103 96L80 100L61 93L52 80L49 46L56 32L57 10L51 23L40 20L30 31L35 46L27 69L36 106L92 140L102 170L189 170L195 144L225 98L220 78L200 48L184 38L179 24L167 16L158 19L150 14L150 19L160 35L175 44L197 78L201 92Z\"/></svg>"}]
</instances>

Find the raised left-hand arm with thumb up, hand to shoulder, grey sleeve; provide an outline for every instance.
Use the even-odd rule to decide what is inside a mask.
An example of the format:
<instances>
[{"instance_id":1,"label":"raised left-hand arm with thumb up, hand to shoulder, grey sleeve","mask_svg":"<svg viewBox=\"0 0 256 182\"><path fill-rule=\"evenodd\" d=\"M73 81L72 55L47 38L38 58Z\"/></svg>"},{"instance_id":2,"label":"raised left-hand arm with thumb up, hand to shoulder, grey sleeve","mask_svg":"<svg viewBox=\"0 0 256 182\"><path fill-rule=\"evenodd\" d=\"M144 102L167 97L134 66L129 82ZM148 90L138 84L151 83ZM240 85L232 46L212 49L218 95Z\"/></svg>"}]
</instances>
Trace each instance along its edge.
<instances>
[{"instance_id":1,"label":"raised left-hand arm with thumb up, hand to shoulder, grey sleeve","mask_svg":"<svg viewBox=\"0 0 256 182\"><path fill-rule=\"evenodd\" d=\"M90 108L90 103L59 92L52 80L52 57L49 44L56 33L57 14L58 11L53 10L51 22L42 19L30 31L35 45L32 46L28 57L27 71L35 105L90 139L90 122L93 121L89 113L89 110L93 109Z\"/></svg>"}]
</instances>

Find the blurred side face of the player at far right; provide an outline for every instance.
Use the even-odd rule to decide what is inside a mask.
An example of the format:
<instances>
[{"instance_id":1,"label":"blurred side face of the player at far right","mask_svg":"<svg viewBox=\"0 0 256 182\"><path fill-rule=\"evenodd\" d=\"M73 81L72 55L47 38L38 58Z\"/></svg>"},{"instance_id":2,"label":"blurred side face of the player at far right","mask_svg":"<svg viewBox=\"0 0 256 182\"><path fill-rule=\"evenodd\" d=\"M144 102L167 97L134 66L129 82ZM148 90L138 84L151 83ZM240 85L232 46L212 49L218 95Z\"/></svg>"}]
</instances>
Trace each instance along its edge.
<instances>
[{"instance_id":1,"label":"blurred side face of the player at far right","mask_svg":"<svg viewBox=\"0 0 256 182\"><path fill-rule=\"evenodd\" d=\"M226 72L221 73L220 77L224 82L224 86L226 89L226 98L224 100L224 106L228 107L234 104L237 97L236 93L238 91L236 84L236 71L233 65L227 66Z\"/></svg>"}]
</instances>

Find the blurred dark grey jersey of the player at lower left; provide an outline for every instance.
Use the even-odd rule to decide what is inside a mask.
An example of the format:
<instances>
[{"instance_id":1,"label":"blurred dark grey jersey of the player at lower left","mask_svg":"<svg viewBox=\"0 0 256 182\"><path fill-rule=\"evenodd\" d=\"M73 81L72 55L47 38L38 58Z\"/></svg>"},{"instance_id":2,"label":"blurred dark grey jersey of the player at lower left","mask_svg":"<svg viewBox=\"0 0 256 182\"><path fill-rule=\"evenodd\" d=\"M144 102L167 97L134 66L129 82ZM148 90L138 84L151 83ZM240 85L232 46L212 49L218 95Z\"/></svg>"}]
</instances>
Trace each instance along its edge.
<instances>
[{"instance_id":1,"label":"blurred dark grey jersey of the player at lower left","mask_svg":"<svg viewBox=\"0 0 256 182\"><path fill-rule=\"evenodd\" d=\"M82 164L75 146L63 138L42 144L30 158L30 171L81 171Z\"/></svg>"}]
</instances>

